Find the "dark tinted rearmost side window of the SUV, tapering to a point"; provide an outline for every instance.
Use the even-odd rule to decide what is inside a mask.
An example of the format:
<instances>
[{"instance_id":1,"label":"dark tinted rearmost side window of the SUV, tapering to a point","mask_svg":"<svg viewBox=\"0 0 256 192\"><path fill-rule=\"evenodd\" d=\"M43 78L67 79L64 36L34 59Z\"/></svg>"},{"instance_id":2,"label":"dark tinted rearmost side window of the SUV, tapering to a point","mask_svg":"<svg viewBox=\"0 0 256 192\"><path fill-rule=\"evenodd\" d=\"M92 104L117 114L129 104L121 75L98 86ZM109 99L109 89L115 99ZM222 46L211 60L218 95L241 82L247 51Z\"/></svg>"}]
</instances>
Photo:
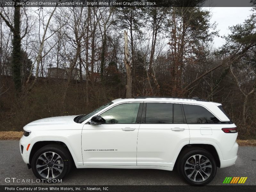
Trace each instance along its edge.
<instances>
[{"instance_id":1,"label":"dark tinted rearmost side window of the SUV, tapering to a point","mask_svg":"<svg viewBox=\"0 0 256 192\"><path fill-rule=\"evenodd\" d=\"M183 104L183 108L188 124L220 123L219 119L202 106Z\"/></svg>"}]
</instances>

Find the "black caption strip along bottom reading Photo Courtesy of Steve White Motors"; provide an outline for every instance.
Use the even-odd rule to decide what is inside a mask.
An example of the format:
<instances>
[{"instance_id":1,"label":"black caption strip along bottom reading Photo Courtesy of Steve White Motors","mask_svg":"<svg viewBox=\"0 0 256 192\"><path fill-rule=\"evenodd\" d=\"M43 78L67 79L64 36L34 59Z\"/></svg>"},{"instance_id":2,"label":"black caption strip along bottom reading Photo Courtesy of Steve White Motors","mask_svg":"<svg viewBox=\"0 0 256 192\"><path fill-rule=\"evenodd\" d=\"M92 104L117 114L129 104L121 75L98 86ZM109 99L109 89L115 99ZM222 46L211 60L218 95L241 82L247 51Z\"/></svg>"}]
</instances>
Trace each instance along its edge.
<instances>
[{"instance_id":1,"label":"black caption strip along bottom reading Photo Courtesy of Steve White Motors","mask_svg":"<svg viewBox=\"0 0 256 192\"><path fill-rule=\"evenodd\" d=\"M208 185L208 186L178 186L178 185L2 185L1 192L242 192L254 191L252 185Z\"/></svg>"}]
</instances>

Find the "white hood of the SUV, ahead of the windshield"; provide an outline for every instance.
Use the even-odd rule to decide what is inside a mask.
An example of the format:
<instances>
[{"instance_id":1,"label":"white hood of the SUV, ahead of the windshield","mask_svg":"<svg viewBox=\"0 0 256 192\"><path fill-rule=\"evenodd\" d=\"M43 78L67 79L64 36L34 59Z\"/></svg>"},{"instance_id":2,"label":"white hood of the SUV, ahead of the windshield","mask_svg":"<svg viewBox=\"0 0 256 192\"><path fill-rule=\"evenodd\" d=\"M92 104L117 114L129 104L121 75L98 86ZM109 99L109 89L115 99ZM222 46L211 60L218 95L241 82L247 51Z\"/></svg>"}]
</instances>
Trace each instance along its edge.
<instances>
[{"instance_id":1,"label":"white hood of the SUV, ahead of the windshield","mask_svg":"<svg viewBox=\"0 0 256 192\"><path fill-rule=\"evenodd\" d=\"M65 125L70 125L70 124L76 124L74 122L74 118L76 117L77 115L72 115L72 116L58 116L58 117L48 117L48 118L44 118L44 119L38 119L36 121L33 121L29 124L27 124L25 127L24 127L24 130L29 130L31 129L32 127L56 127L58 125L62 125L65 126Z\"/></svg>"}]
</instances>

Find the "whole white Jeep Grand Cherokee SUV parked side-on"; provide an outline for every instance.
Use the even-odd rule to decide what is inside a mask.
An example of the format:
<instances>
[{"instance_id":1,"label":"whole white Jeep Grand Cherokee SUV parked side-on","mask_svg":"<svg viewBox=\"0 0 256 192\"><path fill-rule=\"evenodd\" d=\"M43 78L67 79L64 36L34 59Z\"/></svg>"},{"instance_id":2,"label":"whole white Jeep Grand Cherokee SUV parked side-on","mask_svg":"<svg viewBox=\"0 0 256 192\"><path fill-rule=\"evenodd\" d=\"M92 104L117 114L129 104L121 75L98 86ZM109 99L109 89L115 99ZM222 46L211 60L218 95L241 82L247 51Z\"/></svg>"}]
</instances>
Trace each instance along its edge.
<instances>
[{"instance_id":1,"label":"whole white Jeep Grand Cherokee SUV parked side-on","mask_svg":"<svg viewBox=\"0 0 256 192\"><path fill-rule=\"evenodd\" d=\"M20 152L35 176L61 179L76 168L177 168L205 185L216 168L235 164L236 125L220 103L197 98L116 99L88 115L36 120L24 127Z\"/></svg>"}]
</instances>

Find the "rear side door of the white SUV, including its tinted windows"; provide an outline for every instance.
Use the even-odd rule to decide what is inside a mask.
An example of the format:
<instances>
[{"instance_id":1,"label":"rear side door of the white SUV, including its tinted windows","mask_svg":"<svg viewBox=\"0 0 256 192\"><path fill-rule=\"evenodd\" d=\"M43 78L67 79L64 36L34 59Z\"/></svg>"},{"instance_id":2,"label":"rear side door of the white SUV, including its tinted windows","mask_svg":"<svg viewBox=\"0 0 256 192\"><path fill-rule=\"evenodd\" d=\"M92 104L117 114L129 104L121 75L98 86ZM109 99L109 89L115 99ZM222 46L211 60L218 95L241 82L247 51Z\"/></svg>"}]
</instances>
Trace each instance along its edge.
<instances>
[{"instance_id":1,"label":"rear side door of the white SUV, including its tinted windows","mask_svg":"<svg viewBox=\"0 0 256 192\"><path fill-rule=\"evenodd\" d=\"M144 102L137 165L174 165L176 151L189 144L189 129L181 107L179 103Z\"/></svg>"}]
</instances>

